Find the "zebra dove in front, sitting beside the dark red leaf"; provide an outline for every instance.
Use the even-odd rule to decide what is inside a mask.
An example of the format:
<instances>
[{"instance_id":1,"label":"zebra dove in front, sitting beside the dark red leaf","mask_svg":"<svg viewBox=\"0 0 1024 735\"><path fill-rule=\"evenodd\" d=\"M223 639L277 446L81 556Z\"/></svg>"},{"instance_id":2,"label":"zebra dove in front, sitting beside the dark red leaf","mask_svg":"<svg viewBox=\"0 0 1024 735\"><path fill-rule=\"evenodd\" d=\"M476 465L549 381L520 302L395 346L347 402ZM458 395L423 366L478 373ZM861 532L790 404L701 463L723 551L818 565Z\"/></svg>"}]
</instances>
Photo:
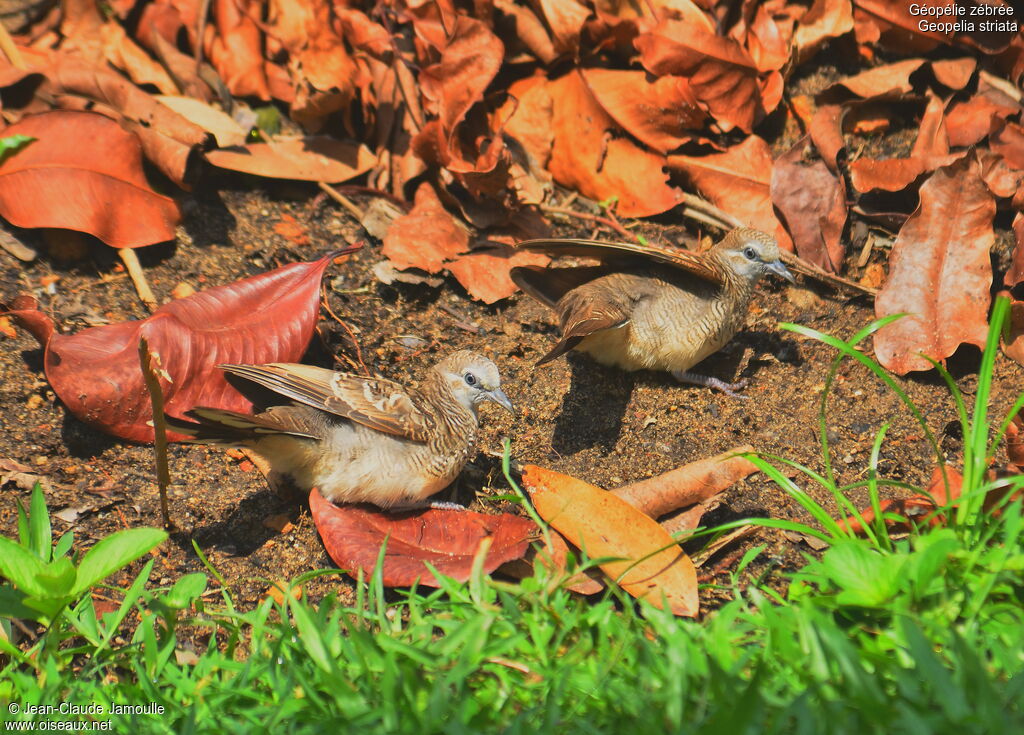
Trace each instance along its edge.
<instances>
[{"instance_id":1,"label":"zebra dove in front, sitting beside the dark red leaf","mask_svg":"<svg viewBox=\"0 0 1024 735\"><path fill-rule=\"evenodd\" d=\"M513 412L498 368L466 350L440 360L417 389L311 365L220 365L295 401L255 416L193 408L168 417L198 444L245 446L296 485L329 501L383 509L427 505L455 480L476 443L477 406Z\"/></svg>"}]
</instances>

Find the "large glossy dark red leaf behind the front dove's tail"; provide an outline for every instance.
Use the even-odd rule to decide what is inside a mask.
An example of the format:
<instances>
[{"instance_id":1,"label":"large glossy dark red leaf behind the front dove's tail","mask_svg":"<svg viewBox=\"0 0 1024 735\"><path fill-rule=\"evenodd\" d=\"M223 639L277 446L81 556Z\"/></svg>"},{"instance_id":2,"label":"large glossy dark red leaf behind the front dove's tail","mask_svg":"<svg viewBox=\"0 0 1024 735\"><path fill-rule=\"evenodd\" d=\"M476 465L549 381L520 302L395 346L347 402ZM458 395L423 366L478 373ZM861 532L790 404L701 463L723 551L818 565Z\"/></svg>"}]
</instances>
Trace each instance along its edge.
<instances>
[{"instance_id":1,"label":"large glossy dark red leaf behind the front dove's tail","mask_svg":"<svg viewBox=\"0 0 1024 735\"><path fill-rule=\"evenodd\" d=\"M15 299L7 313L43 346L46 379L68 410L115 436L153 441L153 408L138 365L140 337L171 378L161 380L168 415L181 417L196 405L248 412L252 403L217 365L299 359L319 313L324 270L337 255L356 249L202 291L140 321L74 335L57 334L31 296Z\"/></svg>"}]
</instances>

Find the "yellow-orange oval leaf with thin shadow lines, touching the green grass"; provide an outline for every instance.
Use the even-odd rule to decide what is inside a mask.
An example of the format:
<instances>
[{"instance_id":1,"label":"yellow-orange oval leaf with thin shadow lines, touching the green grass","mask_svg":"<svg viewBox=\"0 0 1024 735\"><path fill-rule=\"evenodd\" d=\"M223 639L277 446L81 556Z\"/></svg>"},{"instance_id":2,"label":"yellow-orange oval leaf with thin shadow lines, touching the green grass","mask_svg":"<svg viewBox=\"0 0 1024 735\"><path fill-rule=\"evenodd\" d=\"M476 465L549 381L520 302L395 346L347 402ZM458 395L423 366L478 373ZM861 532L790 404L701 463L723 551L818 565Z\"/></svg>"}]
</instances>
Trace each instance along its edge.
<instances>
[{"instance_id":1,"label":"yellow-orange oval leaf with thin shadow lines, touching the green grass","mask_svg":"<svg viewBox=\"0 0 1024 735\"><path fill-rule=\"evenodd\" d=\"M535 465L523 484L538 514L593 558L612 557L601 569L626 592L677 615L698 612L696 569L650 516L614 493Z\"/></svg>"}]
</instances>

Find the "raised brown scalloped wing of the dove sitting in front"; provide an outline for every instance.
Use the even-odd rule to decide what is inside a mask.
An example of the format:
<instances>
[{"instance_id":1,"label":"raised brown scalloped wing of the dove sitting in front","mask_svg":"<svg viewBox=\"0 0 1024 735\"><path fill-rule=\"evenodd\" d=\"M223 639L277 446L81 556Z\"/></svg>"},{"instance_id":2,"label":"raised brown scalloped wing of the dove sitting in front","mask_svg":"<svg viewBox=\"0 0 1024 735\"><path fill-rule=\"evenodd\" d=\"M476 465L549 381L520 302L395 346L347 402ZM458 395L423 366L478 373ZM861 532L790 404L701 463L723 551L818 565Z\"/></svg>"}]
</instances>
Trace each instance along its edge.
<instances>
[{"instance_id":1,"label":"raised brown scalloped wing of the dove sitting in front","mask_svg":"<svg viewBox=\"0 0 1024 735\"><path fill-rule=\"evenodd\" d=\"M258 385L344 417L357 424L413 441L427 441L430 420L399 384L295 362L264 365L222 364L221 370Z\"/></svg>"}]
</instances>

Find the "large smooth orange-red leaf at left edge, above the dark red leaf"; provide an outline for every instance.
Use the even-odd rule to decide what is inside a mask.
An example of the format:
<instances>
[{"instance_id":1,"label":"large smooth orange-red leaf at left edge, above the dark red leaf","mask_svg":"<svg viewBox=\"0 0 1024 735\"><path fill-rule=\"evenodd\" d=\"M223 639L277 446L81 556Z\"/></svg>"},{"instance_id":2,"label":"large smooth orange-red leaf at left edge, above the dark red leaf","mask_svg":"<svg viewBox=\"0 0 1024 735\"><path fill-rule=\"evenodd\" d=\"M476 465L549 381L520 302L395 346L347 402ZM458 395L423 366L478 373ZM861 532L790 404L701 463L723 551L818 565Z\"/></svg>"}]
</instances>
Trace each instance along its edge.
<instances>
[{"instance_id":1,"label":"large smooth orange-red leaf at left edge, above the dark red leaf","mask_svg":"<svg viewBox=\"0 0 1024 735\"><path fill-rule=\"evenodd\" d=\"M177 205L150 188L138 138L110 118L53 111L4 135L36 138L0 164L0 214L12 224L88 232L115 248L174 240Z\"/></svg>"}]
</instances>

